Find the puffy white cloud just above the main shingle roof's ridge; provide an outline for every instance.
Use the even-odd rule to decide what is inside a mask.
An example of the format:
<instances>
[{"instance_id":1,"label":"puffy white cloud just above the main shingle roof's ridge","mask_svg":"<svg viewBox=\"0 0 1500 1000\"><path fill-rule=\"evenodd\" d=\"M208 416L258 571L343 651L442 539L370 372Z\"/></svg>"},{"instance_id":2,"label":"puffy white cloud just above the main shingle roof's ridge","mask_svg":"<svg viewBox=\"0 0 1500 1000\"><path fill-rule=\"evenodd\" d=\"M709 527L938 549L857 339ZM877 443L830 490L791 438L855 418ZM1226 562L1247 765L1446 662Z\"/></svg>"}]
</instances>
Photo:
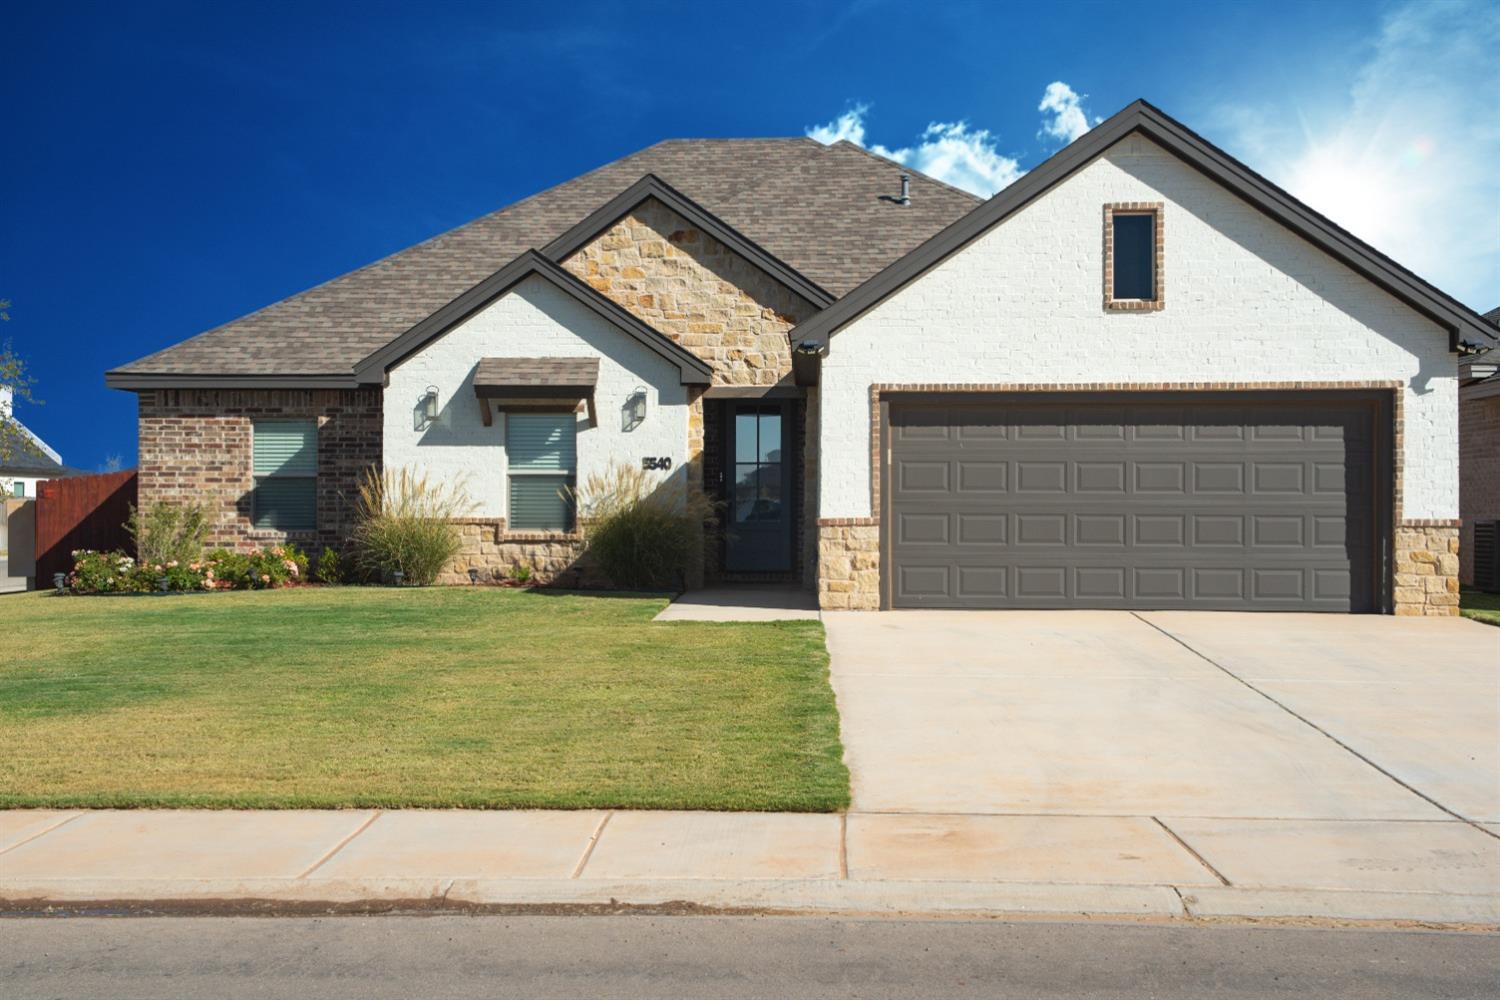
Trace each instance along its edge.
<instances>
[{"instance_id":1,"label":"puffy white cloud just above the main shingle roof's ridge","mask_svg":"<svg viewBox=\"0 0 1500 1000\"><path fill-rule=\"evenodd\" d=\"M864 117L868 109L868 105L856 103L826 124L810 126L807 135L819 142L849 139L866 145ZM912 145L892 150L874 144L868 148L981 198L988 198L1026 172L1014 157L996 148L988 129L970 127L968 121L933 121Z\"/></svg>"}]
</instances>

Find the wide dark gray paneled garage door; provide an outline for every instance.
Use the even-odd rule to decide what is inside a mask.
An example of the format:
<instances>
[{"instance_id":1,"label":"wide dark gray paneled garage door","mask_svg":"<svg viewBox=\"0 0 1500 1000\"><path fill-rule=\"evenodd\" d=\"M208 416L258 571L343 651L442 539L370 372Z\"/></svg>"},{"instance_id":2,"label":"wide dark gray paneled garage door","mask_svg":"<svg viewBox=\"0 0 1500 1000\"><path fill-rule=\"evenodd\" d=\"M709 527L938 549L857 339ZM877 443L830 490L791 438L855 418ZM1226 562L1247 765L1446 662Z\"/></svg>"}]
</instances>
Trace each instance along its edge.
<instances>
[{"instance_id":1,"label":"wide dark gray paneled garage door","mask_svg":"<svg viewBox=\"0 0 1500 1000\"><path fill-rule=\"evenodd\" d=\"M897 397L890 601L1372 610L1377 420L1290 394Z\"/></svg>"}]
</instances>

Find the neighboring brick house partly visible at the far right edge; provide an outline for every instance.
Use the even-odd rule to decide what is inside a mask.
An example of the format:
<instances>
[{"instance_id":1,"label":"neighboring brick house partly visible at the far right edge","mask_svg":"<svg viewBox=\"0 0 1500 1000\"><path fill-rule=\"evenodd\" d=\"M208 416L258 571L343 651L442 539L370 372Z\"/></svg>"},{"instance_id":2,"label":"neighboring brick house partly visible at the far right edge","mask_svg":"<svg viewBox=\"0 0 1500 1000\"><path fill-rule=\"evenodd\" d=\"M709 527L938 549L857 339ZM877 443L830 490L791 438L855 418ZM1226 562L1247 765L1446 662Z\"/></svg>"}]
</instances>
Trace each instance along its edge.
<instances>
[{"instance_id":1,"label":"neighboring brick house partly visible at the far right edge","mask_svg":"<svg viewBox=\"0 0 1500 1000\"><path fill-rule=\"evenodd\" d=\"M1485 319L1500 327L1500 309L1486 312ZM1473 583L1474 523L1500 520L1500 351L1464 358L1458 373L1461 576L1464 583Z\"/></svg>"}]
</instances>

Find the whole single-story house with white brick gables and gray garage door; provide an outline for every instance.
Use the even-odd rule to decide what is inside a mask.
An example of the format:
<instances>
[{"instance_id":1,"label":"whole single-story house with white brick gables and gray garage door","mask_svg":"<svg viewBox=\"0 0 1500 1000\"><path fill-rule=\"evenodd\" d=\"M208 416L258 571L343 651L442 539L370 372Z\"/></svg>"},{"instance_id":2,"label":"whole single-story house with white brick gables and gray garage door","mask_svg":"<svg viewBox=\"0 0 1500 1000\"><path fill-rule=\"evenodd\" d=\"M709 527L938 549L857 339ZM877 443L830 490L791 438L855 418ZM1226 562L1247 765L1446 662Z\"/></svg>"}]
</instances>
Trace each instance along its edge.
<instances>
[{"instance_id":1,"label":"whole single-story house with white brick gables and gray garage door","mask_svg":"<svg viewBox=\"0 0 1500 1000\"><path fill-rule=\"evenodd\" d=\"M988 201L848 142L663 142L108 373L141 501L340 544L372 463L566 573L612 462L706 579L824 607L1456 609L1474 312L1137 102ZM694 574L698 576L698 574Z\"/></svg>"}]
</instances>

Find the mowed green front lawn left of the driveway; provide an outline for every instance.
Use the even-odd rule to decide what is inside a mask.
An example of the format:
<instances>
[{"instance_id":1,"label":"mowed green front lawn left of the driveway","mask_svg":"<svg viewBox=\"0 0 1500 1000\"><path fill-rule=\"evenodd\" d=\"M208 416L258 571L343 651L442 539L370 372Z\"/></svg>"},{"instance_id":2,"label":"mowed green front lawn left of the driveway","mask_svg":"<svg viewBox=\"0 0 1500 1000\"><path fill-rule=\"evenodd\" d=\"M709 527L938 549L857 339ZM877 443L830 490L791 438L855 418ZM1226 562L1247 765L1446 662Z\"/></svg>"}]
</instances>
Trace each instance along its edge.
<instances>
[{"instance_id":1,"label":"mowed green front lawn left of the driveway","mask_svg":"<svg viewBox=\"0 0 1500 1000\"><path fill-rule=\"evenodd\" d=\"M0 807L846 807L822 625L664 604L0 598Z\"/></svg>"}]
</instances>

